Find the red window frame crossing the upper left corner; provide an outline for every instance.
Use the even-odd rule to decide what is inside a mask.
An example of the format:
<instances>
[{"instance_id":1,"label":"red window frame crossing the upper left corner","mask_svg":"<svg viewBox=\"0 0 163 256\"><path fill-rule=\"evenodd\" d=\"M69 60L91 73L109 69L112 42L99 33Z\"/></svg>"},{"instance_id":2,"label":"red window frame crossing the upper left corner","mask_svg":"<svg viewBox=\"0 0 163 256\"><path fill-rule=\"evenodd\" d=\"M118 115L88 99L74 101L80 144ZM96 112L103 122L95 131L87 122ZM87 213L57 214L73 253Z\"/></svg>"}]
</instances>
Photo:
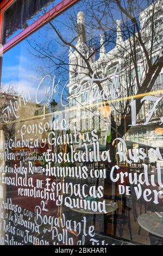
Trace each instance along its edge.
<instances>
[{"instance_id":1,"label":"red window frame crossing the upper left corner","mask_svg":"<svg viewBox=\"0 0 163 256\"><path fill-rule=\"evenodd\" d=\"M2 33L3 33L3 17L4 12L8 7L14 3L15 0L3 0L0 3L0 42L2 44ZM55 1L55 0L54 0ZM27 38L28 35L34 33L37 29L51 21L54 17L61 14L66 9L72 7L73 4L79 2L80 0L62 0L59 4L55 5L51 10L49 10L46 14L41 16L38 20L36 20L32 25L23 29L22 32L15 35L14 38L10 39L6 44L4 44L0 50L0 54L8 51L11 47L21 42L23 39Z\"/></svg>"}]
</instances>

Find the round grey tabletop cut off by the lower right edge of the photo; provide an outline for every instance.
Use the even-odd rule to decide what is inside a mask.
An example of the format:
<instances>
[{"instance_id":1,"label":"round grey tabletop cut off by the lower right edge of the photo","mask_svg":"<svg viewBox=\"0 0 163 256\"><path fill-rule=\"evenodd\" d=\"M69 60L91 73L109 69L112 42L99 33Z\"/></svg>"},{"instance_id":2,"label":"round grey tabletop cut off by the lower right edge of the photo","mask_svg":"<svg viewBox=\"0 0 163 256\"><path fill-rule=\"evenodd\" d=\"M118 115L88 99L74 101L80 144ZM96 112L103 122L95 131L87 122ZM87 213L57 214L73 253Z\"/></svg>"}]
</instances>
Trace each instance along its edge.
<instances>
[{"instance_id":1,"label":"round grey tabletop cut off by the lower right edge of the photo","mask_svg":"<svg viewBox=\"0 0 163 256\"><path fill-rule=\"evenodd\" d=\"M141 228L159 237L163 237L163 224L161 221L162 218L151 211L147 211L146 214L142 214L137 218Z\"/></svg>"}]
</instances>

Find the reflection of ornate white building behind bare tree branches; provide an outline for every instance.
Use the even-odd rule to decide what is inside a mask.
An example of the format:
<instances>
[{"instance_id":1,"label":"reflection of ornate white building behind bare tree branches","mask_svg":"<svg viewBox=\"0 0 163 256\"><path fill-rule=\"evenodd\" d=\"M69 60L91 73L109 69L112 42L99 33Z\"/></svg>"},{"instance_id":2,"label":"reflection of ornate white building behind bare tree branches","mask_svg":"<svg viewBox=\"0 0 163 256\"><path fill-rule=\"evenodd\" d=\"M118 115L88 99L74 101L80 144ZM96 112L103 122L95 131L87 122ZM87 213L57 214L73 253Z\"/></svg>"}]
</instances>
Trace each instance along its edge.
<instances>
[{"instance_id":1,"label":"reflection of ornate white building behind bare tree branches","mask_svg":"<svg viewBox=\"0 0 163 256\"><path fill-rule=\"evenodd\" d=\"M146 42L146 48L150 50L150 12L149 9L143 11L140 14L140 26L141 33L145 35L148 40ZM157 7L156 7L157 8ZM160 7L158 8L160 10ZM161 42L163 42L163 36L161 34L162 26L162 13L155 11L155 41L153 46L152 61L154 62L158 53L161 49ZM159 26L158 26L159 25ZM69 53L69 64L70 64L70 83L67 85L69 88L71 111L71 122L73 126L79 126L79 129L82 130L99 130L99 135L101 136L101 143L105 143L106 130L108 129L108 123L105 122L104 112L100 108L102 105L102 99L97 99L95 96L97 90L97 84L93 83L90 88L90 82L86 81L87 74L90 71L86 59L89 59L89 56L92 57L89 59L89 64L93 72L95 72L97 78L109 77L108 80L101 82L102 87L105 88L106 95L110 95L111 84L114 84L116 87L115 96L121 92L121 97L135 95L137 93L136 78L134 72L134 63L130 64L130 68L127 67L130 60L130 44L129 39L124 40L124 35L121 29L121 21L117 20L117 32L116 32L116 45L115 47L106 52L105 39L104 35L100 35L100 44L101 48L99 50L98 58L95 57L95 54L92 54L91 47L86 44L86 27L85 27L85 17L82 12L79 12L77 15L77 26L78 26L78 40L76 44L77 51L73 51L70 48ZM158 29L158 31L157 31ZM130 40L133 40L131 37ZM141 47L136 46L136 58L137 58L137 74L138 80L141 82L145 74L145 59L143 56L143 51ZM84 58L81 56L81 54ZM120 73L115 73L115 70L119 66L121 68ZM125 72L124 72L125 70ZM84 81L85 79L85 81ZM114 80L114 81L113 81ZM83 81L83 82L81 82ZM128 82L129 81L129 82ZM130 83L133 87L133 94L128 94L126 89L126 84ZM152 90L160 90L163 85L163 72L161 71ZM129 87L129 86L128 86ZM96 94L97 95L97 94ZM159 96L159 95L156 95ZM161 115L161 104L159 105L159 111L154 112L151 123L148 126L143 126L142 123L147 118L147 113L153 106L153 103L148 102L143 104L139 114L137 115L137 126L132 127L127 133L126 139L130 141L135 141L149 146L155 147L155 141L161 147L162 145L162 136L163 132L155 132L155 127L160 124L160 115ZM111 113L116 119L117 125L120 124L121 115L118 114L116 109L120 110L120 102L114 103L114 106L111 107ZM92 113L93 112L93 113Z\"/></svg>"}]
</instances>

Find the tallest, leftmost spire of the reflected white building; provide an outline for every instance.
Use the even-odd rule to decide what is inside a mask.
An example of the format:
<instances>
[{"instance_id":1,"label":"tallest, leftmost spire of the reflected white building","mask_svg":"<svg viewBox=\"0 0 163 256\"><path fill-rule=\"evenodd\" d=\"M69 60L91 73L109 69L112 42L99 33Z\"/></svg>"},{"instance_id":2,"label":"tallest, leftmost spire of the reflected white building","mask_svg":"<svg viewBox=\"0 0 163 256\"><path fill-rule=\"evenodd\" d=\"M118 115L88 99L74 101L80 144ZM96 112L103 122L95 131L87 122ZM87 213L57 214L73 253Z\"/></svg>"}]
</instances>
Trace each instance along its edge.
<instances>
[{"instance_id":1,"label":"tallest, leftmost spire of the reflected white building","mask_svg":"<svg viewBox=\"0 0 163 256\"><path fill-rule=\"evenodd\" d=\"M79 11L77 14L77 25L78 25L78 41L86 43L86 34L85 34L85 16L82 11Z\"/></svg>"}]
</instances>

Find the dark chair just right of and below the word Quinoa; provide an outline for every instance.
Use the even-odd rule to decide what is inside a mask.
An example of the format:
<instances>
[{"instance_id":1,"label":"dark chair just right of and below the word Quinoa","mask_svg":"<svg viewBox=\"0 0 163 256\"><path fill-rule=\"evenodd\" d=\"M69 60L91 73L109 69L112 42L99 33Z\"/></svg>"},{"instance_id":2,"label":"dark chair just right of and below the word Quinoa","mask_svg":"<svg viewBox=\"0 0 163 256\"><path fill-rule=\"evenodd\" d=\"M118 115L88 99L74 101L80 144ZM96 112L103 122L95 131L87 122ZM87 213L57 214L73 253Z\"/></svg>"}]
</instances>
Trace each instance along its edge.
<instances>
[{"instance_id":1,"label":"dark chair just right of and below the word Quinoa","mask_svg":"<svg viewBox=\"0 0 163 256\"><path fill-rule=\"evenodd\" d=\"M124 226L127 224L130 234L130 239L133 240L131 233L131 223L130 223L130 208L126 205L126 197L124 196L104 196L104 199L114 200L118 204L118 212L115 214L106 215L106 224L114 224L114 235L116 235L116 229L120 233L120 237L123 235ZM120 212L120 202L122 203L122 210Z\"/></svg>"}]
</instances>

